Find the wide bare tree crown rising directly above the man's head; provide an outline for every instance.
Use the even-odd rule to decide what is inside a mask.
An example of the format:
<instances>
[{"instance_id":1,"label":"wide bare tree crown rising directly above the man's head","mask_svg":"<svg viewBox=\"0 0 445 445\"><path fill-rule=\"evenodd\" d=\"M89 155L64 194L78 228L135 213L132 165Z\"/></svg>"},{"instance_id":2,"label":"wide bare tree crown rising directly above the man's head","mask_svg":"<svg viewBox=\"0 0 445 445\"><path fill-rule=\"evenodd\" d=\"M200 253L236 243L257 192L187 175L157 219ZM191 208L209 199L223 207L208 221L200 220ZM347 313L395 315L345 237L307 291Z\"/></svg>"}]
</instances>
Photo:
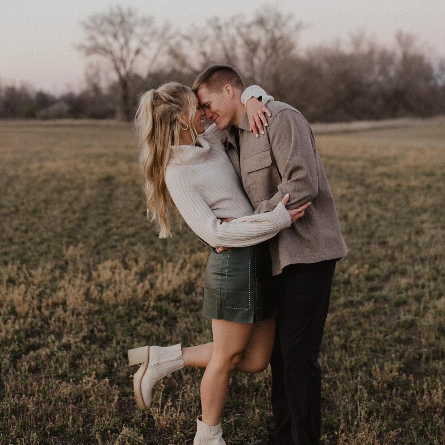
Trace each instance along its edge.
<instances>
[{"instance_id":1,"label":"wide bare tree crown rising directly above the man's head","mask_svg":"<svg viewBox=\"0 0 445 445\"><path fill-rule=\"evenodd\" d=\"M233 16L207 20L170 44L174 69L199 72L212 63L232 65L247 82L260 83L271 93L286 83L283 70L298 49L304 24L293 14L263 8L253 18Z\"/></svg>"}]
</instances>

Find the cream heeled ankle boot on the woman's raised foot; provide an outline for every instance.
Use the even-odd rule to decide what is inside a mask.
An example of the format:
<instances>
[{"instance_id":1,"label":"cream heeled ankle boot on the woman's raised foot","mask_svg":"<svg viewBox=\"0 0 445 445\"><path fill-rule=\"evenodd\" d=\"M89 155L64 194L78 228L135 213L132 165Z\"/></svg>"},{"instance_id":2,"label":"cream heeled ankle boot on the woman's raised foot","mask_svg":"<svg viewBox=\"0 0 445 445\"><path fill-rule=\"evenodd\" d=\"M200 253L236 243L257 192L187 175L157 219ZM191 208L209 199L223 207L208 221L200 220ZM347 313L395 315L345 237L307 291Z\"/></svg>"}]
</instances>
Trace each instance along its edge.
<instances>
[{"instance_id":1,"label":"cream heeled ankle boot on the woman's raised foot","mask_svg":"<svg viewBox=\"0 0 445 445\"><path fill-rule=\"evenodd\" d=\"M133 377L134 395L140 409L147 409L151 403L154 384L170 372L184 367L181 344L173 346L142 346L129 349L130 366L142 363Z\"/></svg>"}]
</instances>

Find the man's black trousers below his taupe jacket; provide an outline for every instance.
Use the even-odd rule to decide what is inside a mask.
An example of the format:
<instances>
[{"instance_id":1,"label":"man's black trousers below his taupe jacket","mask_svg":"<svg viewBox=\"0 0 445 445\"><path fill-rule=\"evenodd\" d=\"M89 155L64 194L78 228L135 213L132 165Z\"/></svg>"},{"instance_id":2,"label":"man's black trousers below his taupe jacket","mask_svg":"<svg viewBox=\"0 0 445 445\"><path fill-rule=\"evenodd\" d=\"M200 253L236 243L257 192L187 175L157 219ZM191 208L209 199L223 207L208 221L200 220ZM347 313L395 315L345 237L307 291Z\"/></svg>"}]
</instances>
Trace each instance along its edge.
<instances>
[{"instance_id":1,"label":"man's black trousers below his taupe jacket","mask_svg":"<svg viewBox=\"0 0 445 445\"><path fill-rule=\"evenodd\" d=\"M320 344L338 259L290 264L273 278L279 314L271 357L271 443L318 445L321 423Z\"/></svg>"}]
</instances>

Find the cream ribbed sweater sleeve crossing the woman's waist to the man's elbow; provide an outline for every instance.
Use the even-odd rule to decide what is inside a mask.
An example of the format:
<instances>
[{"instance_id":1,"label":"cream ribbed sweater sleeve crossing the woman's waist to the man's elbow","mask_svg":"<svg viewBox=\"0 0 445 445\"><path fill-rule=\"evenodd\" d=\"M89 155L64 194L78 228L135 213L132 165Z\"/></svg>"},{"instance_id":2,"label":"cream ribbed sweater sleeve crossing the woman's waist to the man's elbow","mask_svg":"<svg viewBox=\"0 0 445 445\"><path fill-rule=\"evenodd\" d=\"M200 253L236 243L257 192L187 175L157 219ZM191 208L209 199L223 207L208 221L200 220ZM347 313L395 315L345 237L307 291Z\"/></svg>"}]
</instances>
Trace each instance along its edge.
<instances>
[{"instance_id":1,"label":"cream ribbed sweater sleeve crossing the woman's waist to the man's elbow","mask_svg":"<svg viewBox=\"0 0 445 445\"><path fill-rule=\"evenodd\" d=\"M291 217L281 202L271 212L242 216L221 224L191 175L183 169L175 170L166 175L170 196L190 229L210 246L252 246L291 226Z\"/></svg>"}]
</instances>

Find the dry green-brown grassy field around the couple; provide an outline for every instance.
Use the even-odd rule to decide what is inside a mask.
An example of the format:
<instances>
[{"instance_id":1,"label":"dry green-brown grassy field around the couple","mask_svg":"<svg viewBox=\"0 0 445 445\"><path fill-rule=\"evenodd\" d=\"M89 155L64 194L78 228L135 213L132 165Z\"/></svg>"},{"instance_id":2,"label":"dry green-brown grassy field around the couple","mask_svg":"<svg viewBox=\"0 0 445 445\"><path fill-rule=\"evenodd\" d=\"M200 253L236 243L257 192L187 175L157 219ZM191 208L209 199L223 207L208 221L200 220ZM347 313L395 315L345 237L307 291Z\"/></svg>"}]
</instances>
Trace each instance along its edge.
<instances>
[{"instance_id":1,"label":"dry green-brown grassy field around the couple","mask_svg":"<svg viewBox=\"0 0 445 445\"><path fill-rule=\"evenodd\" d=\"M328 131L328 130L326 130ZM316 134L349 254L320 364L322 443L445 444L445 118ZM131 125L0 123L0 443L191 444L201 369L138 410L126 350L211 341L209 251L146 219ZM228 444L271 423L235 373Z\"/></svg>"}]
</instances>

